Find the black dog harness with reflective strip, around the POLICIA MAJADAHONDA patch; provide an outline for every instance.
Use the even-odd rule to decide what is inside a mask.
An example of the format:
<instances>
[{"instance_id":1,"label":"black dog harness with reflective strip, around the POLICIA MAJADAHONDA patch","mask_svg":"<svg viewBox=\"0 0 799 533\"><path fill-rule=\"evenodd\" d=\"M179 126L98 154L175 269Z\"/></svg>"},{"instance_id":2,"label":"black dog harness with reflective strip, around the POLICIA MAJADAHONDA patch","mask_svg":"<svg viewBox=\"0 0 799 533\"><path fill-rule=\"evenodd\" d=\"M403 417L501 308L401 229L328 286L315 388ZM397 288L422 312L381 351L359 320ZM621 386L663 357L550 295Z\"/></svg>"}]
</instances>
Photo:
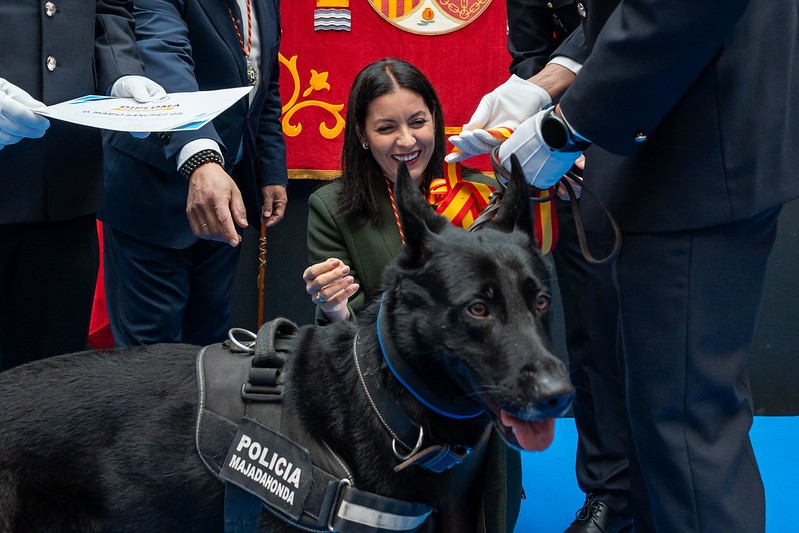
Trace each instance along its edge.
<instances>
[{"instance_id":1,"label":"black dog harness with reflective strip, around the POLICIA MAJADAHONDA patch","mask_svg":"<svg viewBox=\"0 0 799 533\"><path fill-rule=\"evenodd\" d=\"M394 533L418 529L432 513L430 506L353 487L352 476L332 450L324 443L312 447L306 440L310 436L301 432L296 415L281 403L281 370L289 351L287 342L296 333L296 326L280 321L267 329L266 338L259 335L256 349L251 350L258 351L260 357L234 353L221 344L205 347L197 354L197 449L211 474L224 482L220 472L231 446L239 442L236 437L242 427L233 420L245 417L242 423L262 425L265 430L271 428L269 431L287 435L285 438L291 438L298 446L315 450L310 489L303 499L301 515L291 517L241 486L225 483L226 533L258 531L265 509L310 530ZM261 366L256 367L256 363ZM241 397L237 390L241 391ZM241 398L246 399L242 402Z\"/></svg>"}]
</instances>

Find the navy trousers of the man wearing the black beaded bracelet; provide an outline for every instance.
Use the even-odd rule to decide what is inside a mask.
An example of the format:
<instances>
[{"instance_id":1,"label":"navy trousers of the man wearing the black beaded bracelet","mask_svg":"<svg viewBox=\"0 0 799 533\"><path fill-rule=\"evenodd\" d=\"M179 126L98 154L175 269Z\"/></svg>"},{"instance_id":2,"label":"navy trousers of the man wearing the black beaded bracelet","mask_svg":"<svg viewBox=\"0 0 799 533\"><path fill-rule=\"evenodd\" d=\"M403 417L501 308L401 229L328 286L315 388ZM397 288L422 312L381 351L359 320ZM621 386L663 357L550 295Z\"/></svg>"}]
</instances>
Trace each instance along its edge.
<instances>
[{"instance_id":1,"label":"navy trousers of the man wearing the black beaded bracelet","mask_svg":"<svg viewBox=\"0 0 799 533\"><path fill-rule=\"evenodd\" d=\"M240 247L199 239L173 249L103 225L105 291L114 345L208 345L227 338Z\"/></svg>"}]
</instances>

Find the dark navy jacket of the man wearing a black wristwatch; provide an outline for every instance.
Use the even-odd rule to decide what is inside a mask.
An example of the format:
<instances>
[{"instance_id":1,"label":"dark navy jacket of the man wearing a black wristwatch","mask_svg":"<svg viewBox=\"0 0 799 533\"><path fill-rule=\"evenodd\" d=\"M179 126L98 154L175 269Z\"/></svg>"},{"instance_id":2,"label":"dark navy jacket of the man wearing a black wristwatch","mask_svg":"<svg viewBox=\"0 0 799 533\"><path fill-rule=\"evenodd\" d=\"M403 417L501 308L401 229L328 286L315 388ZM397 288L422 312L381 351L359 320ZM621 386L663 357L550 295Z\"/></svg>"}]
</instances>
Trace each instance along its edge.
<instances>
[{"instance_id":1,"label":"dark navy jacket of the man wearing a black wristwatch","mask_svg":"<svg viewBox=\"0 0 799 533\"><path fill-rule=\"evenodd\" d=\"M560 104L625 231L729 223L799 195L797 0L583 3L590 55Z\"/></svg>"}]
</instances>

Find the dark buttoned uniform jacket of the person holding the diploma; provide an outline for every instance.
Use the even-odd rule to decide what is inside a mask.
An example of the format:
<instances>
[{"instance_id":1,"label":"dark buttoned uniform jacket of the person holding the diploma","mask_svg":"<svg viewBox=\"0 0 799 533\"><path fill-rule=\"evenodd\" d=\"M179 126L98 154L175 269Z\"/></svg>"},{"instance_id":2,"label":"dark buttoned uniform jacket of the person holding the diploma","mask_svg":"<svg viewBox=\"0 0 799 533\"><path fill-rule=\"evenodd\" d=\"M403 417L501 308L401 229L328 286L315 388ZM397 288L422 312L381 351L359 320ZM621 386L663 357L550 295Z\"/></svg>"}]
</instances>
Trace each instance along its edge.
<instances>
[{"instance_id":1,"label":"dark buttoned uniform jacket of the person holding the diploma","mask_svg":"<svg viewBox=\"0 0 799 533\"><path fill-rule=\"evenodd\" d=\"M130 0L0 2L0 76L45 104L105 94L127 74L143 74ZM55 60L55 68L46 59ZM98 130L53 120L41 139L0 150L0 224L59 221L102 205Z\"/></svg>"}]
</instances>

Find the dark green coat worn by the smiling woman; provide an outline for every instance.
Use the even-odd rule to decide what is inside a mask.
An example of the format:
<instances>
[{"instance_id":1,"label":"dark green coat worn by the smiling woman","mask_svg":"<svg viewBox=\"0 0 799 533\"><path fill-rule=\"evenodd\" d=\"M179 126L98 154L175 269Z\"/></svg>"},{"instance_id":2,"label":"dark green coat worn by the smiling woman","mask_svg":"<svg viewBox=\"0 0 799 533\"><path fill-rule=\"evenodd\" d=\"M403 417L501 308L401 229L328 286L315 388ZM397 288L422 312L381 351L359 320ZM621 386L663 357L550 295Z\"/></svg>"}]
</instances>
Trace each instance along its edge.
<instances>
[{"instance_id":1,"label":"dark green coat worn by the smiling woman","mask_svg":"<svg viewBox=\"0 0 799 533\"><path fill-rule=\"evenodd\" d=\"M492 180L483 174L470 174L468 178L492 184ZM375 226L336 214L340 190L341 183L334 181L308 199L308 256L309 264L337 257L349 265L350 274L360 285L349 304L350 313L355 316L367 298L380 287L383 270L399 255L402 241L387 191L380 197L381 222ZM317 322L326 323L319 310ZM521 457L505 446L496 433L490 440L486 472L483 523L477 525L475 532L512 533L521 505Z\"/></svg>"}]
</instances>

